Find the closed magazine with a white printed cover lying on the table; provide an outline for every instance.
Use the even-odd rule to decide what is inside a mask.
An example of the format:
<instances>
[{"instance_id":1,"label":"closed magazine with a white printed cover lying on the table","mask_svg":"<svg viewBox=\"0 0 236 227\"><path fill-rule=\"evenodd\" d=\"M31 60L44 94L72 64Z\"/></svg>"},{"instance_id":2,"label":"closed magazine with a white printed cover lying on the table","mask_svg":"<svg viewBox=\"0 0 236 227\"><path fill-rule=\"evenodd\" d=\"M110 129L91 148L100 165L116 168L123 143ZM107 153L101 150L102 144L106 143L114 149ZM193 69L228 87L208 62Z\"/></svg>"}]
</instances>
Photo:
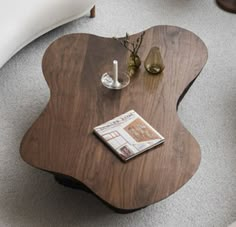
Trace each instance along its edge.
<instances>
[{"instance_id":1,"label":"closed magazine with a white printed cover lying on the table","mask_svg":"<svg viewBox=\"0 0 236 227\"><path fill-rule=\"evenodd\" d=\"M165 140L134 110L95 127L94 132L123 161L129 160Z\"/></svg>"}]
</instances>

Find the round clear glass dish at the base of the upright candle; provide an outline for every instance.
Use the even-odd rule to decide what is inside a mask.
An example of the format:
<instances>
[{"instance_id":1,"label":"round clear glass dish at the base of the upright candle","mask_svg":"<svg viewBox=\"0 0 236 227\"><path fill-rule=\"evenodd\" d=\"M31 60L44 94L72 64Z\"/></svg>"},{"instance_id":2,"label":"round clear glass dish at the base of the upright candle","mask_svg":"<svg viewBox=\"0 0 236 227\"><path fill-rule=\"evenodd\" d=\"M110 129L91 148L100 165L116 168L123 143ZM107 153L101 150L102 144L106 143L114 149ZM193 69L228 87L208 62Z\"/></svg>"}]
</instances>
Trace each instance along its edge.
<instances>
[{"instance_id":1,"label":"round clear glass dish at the base of the upright candle","mask_svg":"<svg viewBox=\"0 0 236 227\"><path fill-rule=\"evenodd\" d=\"M130 82L130 77L125 72L119 74L118 82L115 82L113 78L114 76L111 72L104 73L101 77L103 86L109 89L120 90L125 88Z\"/></svg>"}]
</instances>

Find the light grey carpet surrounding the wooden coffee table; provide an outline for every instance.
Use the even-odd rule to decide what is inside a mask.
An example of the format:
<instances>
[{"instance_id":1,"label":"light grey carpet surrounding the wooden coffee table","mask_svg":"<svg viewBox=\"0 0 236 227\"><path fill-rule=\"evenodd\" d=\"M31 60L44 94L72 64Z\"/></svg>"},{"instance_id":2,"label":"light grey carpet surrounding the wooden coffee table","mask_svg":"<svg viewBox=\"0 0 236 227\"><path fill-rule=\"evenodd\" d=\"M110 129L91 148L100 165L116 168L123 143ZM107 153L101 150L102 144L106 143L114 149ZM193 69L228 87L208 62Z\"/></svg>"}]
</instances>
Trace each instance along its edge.
<instances>
[{"instance_id":1,"label":"light grey carpet surrounding the wooden coffee table","mask_svg":"<svg viewBox=\"0 0 236 227\"><path fill-rule=\"evenodd\" d=\"M95 197L55 183L19 155L22 136L44 109L49 90L41 59L72 32L122 36L153 25L181 26L206 43L209 59L179 107L198 140L194 177L169 198L138 212L113 213ZM99 0L97 17L62 26L28 45L0 69L0 226L227 226L236 220L236 15L214 0Z\"/></svg>"}]
</instances>

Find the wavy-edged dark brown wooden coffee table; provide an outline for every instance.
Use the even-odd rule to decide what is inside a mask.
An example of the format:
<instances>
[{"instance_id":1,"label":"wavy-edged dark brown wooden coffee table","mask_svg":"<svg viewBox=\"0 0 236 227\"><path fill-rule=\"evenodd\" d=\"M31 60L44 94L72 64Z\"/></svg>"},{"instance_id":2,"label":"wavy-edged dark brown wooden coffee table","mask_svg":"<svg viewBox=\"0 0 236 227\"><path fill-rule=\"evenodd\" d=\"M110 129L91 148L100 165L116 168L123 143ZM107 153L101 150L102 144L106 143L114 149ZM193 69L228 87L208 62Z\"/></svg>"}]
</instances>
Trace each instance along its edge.
<instances>
[{"instance_id":1,"label":"wavy-edged dark brown wooden coffee table","mask_svg":"<svg viewBox=\"0 0 236 227\"><path fill-rule=\"evenodd\" d=\"M126 70L129 53L116 40L71 34L53 42L42 64L50 101L23 138L22 158L60 183L93 192L119 212L143 208L182 187L198 169L201 153L177 106L205 65L207 48L190 31L157 26L146 31L141 59L156 45L164 73L149 75L142 65L128 87L114 91L100 79L114 59ZM93 128L131 109L166 141L124 163Z\"/></svg>"}]
</instances>

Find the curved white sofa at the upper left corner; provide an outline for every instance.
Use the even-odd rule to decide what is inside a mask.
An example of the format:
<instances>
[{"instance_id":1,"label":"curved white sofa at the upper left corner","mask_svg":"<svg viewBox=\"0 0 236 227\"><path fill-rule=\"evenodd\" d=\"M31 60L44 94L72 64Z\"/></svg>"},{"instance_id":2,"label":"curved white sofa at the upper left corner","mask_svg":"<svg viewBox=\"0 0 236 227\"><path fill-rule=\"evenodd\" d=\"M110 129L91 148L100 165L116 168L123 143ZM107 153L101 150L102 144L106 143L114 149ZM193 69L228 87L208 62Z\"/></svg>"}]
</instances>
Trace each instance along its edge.
<instances>
[{"instance_id":1,"label":"curved white sofa at the upper left corner","mask_svg":"<svg viewBox=\"0 0 236 227\"><path fill-rule=\"evenodd\" d=\"M42 34L83 16L95 0L0 0L0 68Z\"/></svg>"}]
</instances>

